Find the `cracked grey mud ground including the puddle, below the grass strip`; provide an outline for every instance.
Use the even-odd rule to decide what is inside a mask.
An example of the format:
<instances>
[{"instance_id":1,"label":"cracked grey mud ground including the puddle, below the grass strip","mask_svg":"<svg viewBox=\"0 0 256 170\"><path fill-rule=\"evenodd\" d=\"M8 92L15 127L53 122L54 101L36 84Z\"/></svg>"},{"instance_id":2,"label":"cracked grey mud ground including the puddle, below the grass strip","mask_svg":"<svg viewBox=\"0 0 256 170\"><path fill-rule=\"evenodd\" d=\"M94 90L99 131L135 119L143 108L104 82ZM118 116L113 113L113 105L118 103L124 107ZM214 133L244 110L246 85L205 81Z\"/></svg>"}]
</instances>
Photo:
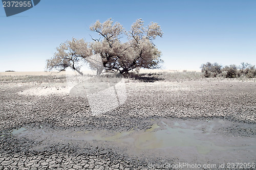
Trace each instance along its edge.
<instances>
[{"instance_id":1,"label":"cracked grey mud ground including the puddle, below the grass strip","mask_svg":"<svg viewBox=\"0 0 256 170\"><path fill-rule=\"evenodd\" d=\"M63 76L0 76L0 169L255 169L255 80Z\"/></svg>"}]
</instances>

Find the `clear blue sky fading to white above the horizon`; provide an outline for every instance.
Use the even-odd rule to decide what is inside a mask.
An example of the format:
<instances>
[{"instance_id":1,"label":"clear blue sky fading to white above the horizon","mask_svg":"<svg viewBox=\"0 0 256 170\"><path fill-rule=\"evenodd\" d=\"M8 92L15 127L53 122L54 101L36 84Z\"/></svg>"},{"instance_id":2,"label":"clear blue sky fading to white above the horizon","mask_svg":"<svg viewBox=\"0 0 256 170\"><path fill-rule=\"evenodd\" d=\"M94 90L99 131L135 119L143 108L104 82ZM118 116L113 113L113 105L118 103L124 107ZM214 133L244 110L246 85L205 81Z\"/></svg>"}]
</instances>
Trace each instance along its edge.
<instances>
[{"instance_id":1,"label":"clear blue sky fading to white above the horizon","mask_svg":"<svg viewBox=\"0 0 256 170\"><path fill-rule=\"evenodd\" d=\"M129 30L142 18L159 23L155 44L163 69L200 69L207 61L256 65L255 0L84 1L41 0L34 8L6 17L0 7L0 71L44 71L46 59L72 37L98 37L96 20L113 18Z\"/></svg>"}]
</instances>

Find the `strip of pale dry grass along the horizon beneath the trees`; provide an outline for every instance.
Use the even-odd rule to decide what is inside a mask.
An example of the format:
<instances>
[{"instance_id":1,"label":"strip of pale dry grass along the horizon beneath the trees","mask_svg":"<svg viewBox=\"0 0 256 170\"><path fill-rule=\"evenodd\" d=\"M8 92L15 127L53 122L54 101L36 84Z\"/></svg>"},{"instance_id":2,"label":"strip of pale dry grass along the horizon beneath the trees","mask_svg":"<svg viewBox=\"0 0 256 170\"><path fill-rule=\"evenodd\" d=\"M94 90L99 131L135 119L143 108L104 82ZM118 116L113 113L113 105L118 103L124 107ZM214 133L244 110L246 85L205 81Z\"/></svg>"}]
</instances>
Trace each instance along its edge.
<instances>
[{"instance_id":1,"label":"strip of pale dry grass along the horizon beneath the trees","mask_svg":"<svg viewBox=\"0 0 256 170\"><path fill-rule=\"evenodd\" d=\"M121 78L115 76L115 74L102 74L99 77L95 77L90 72L84 76L70 75L70 72L61 71L57 72L0 72L0 83L63 83L67 81L83 82L89 81L91 83L97 82L111 82L117 83ZM66 75L67 74L67 75ZM131 72L129 76L125 78L125 82L182 82L193 80L228 80L228 81L256 81L256 79L248 78L204 78L203 73L199 71L177 71L177 70L141 70L139 74Z\"/></svg>"}]
</instances>

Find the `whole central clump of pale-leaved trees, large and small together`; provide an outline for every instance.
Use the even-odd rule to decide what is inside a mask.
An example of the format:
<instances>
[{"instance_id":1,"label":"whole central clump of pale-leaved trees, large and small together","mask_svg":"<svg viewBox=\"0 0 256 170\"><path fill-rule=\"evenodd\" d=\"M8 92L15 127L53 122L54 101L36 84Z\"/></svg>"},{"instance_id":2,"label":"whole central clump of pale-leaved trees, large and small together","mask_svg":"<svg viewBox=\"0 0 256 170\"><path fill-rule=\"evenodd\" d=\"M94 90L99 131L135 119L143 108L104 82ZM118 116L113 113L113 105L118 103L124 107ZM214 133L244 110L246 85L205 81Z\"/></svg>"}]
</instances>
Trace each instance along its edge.
<instances>
[{"instance_id":1,"label":"whole central clump of pale-leaved trees, large and small together","mask_svg":"<svg viewBox=\"0 0 256 170\"><path fill-rule=\"evenodd\" d=\"M110 18L103 23L96 21L90 30L98 33L100 38L92 38L91 43L73 38L72 41L60 44L58 53L47 60L47 69L63 70L71 67L81 74L81 65L78 63L84 61L97 70L97 75L101 74L103 68L108 72L127 74L137 67L158 68L162 62L161 52L153 43L157 36L163 35L158 23L152 22L144 27L144 21L137 19L131 30L126 32L119 22L114 23ZM127 41L122 42L121 38L125 36Z\"/></svg>"}]
</instances>

